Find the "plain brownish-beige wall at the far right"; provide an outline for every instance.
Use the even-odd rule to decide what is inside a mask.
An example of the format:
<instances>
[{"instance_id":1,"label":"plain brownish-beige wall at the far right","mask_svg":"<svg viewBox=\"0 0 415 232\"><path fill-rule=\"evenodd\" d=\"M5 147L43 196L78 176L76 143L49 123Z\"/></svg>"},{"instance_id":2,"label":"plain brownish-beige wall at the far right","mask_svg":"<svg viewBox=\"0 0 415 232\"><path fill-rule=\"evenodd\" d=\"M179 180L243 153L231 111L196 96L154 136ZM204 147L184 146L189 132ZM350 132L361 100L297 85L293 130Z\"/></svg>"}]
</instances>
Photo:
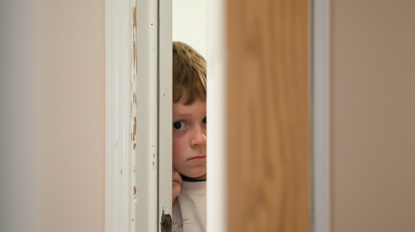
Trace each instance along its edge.
<instances>
[{"instance_id":1,"label":"plain brownish-beige wall at the far right","mask_svg":"<svg viewBox=\"0 0 415 232\"><path fill-rule=\"evenodd\" d=\"M415 230L415 1L332 1L332 229Z\"/></svg>"}]
</instances>

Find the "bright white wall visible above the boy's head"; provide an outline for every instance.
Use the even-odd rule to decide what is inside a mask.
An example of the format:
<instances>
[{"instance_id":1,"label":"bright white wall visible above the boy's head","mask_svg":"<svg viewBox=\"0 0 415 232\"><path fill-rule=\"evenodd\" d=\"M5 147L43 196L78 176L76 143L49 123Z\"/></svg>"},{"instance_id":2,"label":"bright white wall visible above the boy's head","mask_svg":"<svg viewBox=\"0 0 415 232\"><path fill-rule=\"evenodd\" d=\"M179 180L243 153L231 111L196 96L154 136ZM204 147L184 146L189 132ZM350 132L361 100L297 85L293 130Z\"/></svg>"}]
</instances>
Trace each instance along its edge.
<instances>
[{"instance_id":1,"label":"bright white wall visible above the boy's head","mask_svg":"<svg viewBox=\"0 0 415 232\"><path fill-rule=\"evenodd\" d=\"M206 0L173 0L173 41L189 44L206 59Z\"/></svg>"}]
</instances>

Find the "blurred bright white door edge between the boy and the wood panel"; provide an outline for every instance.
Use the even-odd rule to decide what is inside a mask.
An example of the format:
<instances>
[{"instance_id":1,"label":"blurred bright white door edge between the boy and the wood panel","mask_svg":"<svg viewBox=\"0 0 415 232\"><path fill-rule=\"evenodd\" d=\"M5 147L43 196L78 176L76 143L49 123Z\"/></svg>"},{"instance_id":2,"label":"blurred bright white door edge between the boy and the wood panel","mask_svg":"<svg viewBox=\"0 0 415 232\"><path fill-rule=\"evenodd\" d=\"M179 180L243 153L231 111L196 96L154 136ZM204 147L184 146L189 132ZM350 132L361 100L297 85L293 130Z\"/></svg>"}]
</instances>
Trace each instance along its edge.
<instances>
[{"instance_id":1,"label":"blurred bright white door edge between the boy and the wood panel","mask_svg":"<svg viewBox=\"0 0 415 232\"><path fill-rule=\"evenodd\" d=\"M207 1L207 232L227 231L225 0Z\"/></svg>"}]
</instances>

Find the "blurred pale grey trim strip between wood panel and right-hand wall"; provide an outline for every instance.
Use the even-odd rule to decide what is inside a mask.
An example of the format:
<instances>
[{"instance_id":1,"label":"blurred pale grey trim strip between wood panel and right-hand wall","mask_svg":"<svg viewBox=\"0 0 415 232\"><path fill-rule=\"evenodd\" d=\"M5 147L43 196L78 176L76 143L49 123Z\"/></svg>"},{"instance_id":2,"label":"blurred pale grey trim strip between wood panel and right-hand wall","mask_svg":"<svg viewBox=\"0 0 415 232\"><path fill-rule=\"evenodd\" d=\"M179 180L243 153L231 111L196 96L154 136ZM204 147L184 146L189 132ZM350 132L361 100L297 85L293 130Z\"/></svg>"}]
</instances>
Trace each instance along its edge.
<instances>
[{"instance_id":1,"label":"blurred pale grey trim strip between wood panel and right-hand wall","mask_svg":"<svg viewBox=\"0 0 415 232\"><path fill-rule=\"evenodd\" d=\"M330 0L312 1L313 231L330 232Z\"/></svg>"}]
</instances>

